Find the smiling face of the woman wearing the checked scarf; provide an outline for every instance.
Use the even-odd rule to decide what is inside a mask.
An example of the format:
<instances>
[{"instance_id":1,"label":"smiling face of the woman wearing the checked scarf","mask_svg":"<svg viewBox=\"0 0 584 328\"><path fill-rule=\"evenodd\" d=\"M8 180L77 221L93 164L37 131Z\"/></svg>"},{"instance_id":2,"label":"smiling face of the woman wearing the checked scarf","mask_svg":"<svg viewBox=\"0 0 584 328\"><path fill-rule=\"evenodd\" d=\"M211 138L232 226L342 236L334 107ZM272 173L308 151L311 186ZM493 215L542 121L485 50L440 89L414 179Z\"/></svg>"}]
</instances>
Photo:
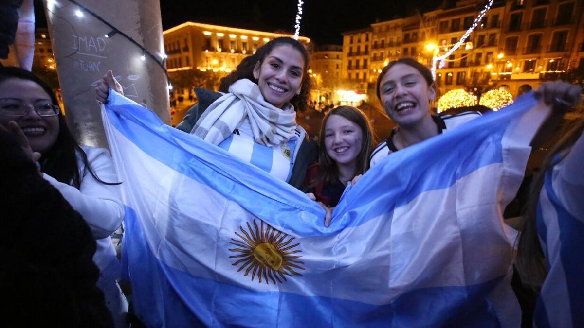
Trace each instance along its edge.
<instances>
[{"instance_id":1,"label":"smiling face of the woman wearing the checked scarf","mask_svg":"<svg viewBox=\"0 0 584 328\"><path fill-rule=\"evenodd\" d=\"M263 62L256 64L253 76L266 102L282 108L300 90L305 62L300 51L286 44L275 47Z\"/></svg>"}]
</instances>

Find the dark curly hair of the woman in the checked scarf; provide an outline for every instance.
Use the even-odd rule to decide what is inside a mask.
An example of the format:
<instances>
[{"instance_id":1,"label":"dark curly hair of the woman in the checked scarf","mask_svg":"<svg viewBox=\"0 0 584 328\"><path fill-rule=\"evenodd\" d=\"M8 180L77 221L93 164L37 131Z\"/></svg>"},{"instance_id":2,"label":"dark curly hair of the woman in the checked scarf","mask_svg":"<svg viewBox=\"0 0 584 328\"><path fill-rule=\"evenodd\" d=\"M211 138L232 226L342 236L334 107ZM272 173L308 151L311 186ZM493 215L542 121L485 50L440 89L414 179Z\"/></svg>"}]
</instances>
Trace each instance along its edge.
<instances>
[{"instance_id":1,"label":"dark curly hair of the woman in the checked scarf","mask_svg":"<svg viewBox=\"0 0 584 328\"><path fill-rule=\"evenodd\" d=\"M310 95L310 89L312 88L310 75L308 74L308 51L300 42L291 37L277 37L276 39L264 44L262 47L259 47L255 54L245 57L244 60L237 65L235 71L231 72L224 78L221 78L219 91L226 93L229 92L229 87L235 83L235 81L241 79L249 79L250 81L258 83L258 80L253 77L253 68L255 68L257 62L262 64L266 57L272 53L272 50L279 46L293 47L298 50L304 59L304 72L300 84L300 95L294 95L294 97L290 99L290 103L294 106L295 110L304 111L307 108L308 96Z\"/></svg>"}]
</instances>

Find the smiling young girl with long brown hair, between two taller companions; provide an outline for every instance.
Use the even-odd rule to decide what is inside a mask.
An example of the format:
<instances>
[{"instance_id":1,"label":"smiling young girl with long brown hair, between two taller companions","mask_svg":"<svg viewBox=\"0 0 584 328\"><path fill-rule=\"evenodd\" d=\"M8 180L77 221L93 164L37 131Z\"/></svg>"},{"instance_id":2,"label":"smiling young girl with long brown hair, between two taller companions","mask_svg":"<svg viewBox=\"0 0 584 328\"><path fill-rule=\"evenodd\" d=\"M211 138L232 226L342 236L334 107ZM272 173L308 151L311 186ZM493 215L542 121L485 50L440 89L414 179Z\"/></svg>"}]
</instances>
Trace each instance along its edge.
<instances>
[{"instance_id":1,"label":"smiling young girl with long brown hair, between two taller companions","mask_svg":"<svg viewBox=\"0 0 584 328\"><path fill-rule=\"evenodd\" d=\"M373 129L363 111L339 106L321 124L318 163L308 169L305 183L311 198L328 207L339 203L349 182L355 183L369 168Z\"/></svg>"}]
</instances>

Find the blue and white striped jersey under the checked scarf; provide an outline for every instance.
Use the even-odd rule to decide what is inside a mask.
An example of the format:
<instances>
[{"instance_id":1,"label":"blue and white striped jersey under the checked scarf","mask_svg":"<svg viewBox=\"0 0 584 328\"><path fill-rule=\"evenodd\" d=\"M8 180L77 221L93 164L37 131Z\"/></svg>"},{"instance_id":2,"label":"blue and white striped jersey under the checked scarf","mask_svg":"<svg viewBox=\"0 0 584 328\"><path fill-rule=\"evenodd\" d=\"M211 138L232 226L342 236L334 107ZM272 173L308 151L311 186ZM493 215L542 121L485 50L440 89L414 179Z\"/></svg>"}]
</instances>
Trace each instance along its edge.
<instances>
[{"instance_id":1,"label":"blue and white striped jersey under the checked scarf","mask_svg":"<svg viewBox=\"0 0 584 328\"><path fill-rule=\"evenodd\" d=\"M270 175L286 182L290 180L296 146L301 137L301 128L296 127L294 137L288 142L270 148L255 142L249 118L245 118L239 128L219 146L235 157L265 170Z\"/></svg>"}]
</instances>

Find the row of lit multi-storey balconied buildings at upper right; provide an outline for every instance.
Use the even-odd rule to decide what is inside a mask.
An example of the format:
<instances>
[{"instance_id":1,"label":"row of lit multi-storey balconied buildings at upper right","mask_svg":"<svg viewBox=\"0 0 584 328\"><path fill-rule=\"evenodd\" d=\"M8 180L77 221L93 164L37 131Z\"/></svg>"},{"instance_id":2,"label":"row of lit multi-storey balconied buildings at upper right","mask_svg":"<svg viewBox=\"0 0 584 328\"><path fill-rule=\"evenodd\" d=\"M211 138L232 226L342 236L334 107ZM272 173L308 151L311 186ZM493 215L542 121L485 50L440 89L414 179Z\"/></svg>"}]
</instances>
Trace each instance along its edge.
<instances>
[{"instance_id":1,"label":"row of lit multi-storey balconied buildings at upper right","mask_svg":"<svg viewBox=\"0 0 584 328\"><path fill-rule=\"evenodd\" d=\"M484 6L482 0L461 0L454 8L343 33L342 78L374 94L374 82L387 62L412 57L430 66L433 55L444 54L457 43ZM369 56L363 55L368 48ZM370 63L369 69L364 70L363 63ZM584 68L582 1L495 0L465 43L439 63L436 90L440 96L452 89L472 92L482 85L508 90L515 97L522 87L536 89L576 67Z\"/></svg>"}]
</instances>

